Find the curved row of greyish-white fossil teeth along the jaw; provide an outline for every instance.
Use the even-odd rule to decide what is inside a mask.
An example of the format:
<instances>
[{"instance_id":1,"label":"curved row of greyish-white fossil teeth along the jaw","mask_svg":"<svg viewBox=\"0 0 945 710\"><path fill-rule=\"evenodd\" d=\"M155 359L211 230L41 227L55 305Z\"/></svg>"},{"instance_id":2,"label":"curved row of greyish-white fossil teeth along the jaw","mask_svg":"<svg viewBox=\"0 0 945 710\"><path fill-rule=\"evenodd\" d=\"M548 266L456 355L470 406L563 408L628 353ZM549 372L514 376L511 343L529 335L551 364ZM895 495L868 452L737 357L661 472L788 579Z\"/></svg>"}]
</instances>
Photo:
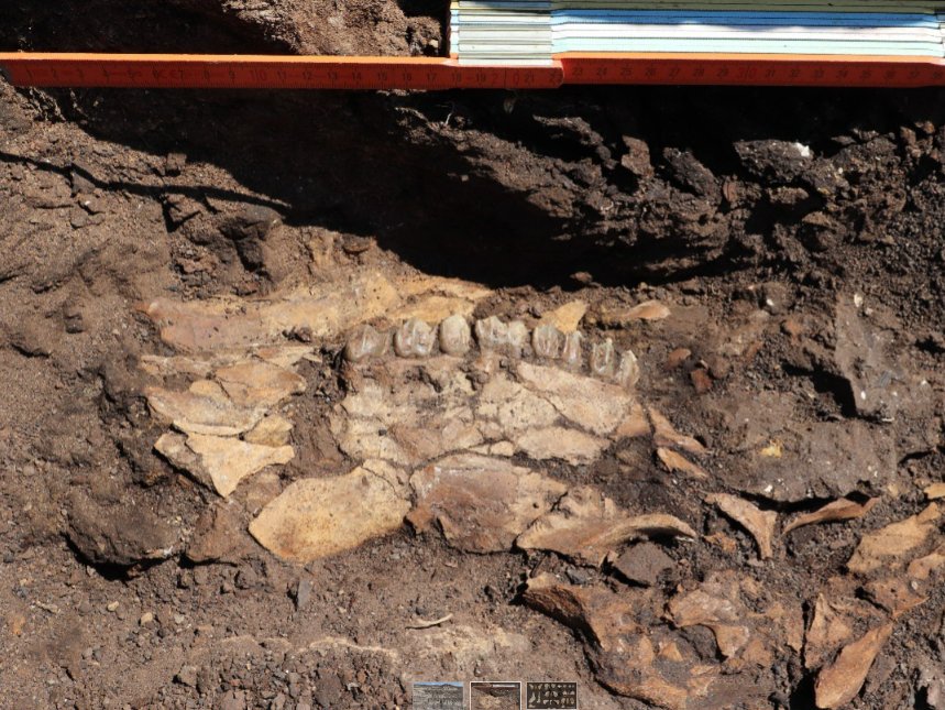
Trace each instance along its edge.
<instances>
[{"instance_id":1,"label":"curved row of greyish-white fossil teeth along the jaw","mask_svg":"<svg viewBox=\"0 0 945 710\"><path fill-rule=\"evenodd\" d=\"M584 363L584 336L581 332L562 334L548 324L540 324L529 332L520 320L506 324L495 316L476 320L473 328L462 316L450 316L436 328L418 318L410 318L393 332L365 325L348 341L344 358L349 362L362 362L387 354L392 349L402 358L428 358L437 347L444 354L462 357L473 348L473 334L483 351L514 358L534 356L558 361L573 370L581 369ZM591 346L587 365L594 375L626 386L636 384L639 379L636 356L631 350L618 354L609 338Z\"/></svg>"}]
</instances>

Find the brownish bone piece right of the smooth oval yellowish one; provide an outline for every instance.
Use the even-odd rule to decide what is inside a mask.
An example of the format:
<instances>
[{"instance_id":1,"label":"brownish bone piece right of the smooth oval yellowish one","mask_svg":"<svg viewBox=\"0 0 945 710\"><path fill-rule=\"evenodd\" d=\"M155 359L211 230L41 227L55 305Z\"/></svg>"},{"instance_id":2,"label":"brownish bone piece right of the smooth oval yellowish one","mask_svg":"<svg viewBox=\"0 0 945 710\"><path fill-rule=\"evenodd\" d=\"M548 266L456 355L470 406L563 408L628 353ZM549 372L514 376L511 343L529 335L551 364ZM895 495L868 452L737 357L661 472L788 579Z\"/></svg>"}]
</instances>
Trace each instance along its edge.
<instances>
[{"instance_id":1,"label":"brownish bone piece right of the smooth oval yellowish one","mask_svg":"<svg viewBox=\"0 0 945 710\"><path fill-rule=\"evenodd\" d=\"M433 522L443 537L471 553L503 551L567 485L507 460L461 454L420 469L410 478L416 506L408 520L418 529Z\"/></svg>"}]
</instances>

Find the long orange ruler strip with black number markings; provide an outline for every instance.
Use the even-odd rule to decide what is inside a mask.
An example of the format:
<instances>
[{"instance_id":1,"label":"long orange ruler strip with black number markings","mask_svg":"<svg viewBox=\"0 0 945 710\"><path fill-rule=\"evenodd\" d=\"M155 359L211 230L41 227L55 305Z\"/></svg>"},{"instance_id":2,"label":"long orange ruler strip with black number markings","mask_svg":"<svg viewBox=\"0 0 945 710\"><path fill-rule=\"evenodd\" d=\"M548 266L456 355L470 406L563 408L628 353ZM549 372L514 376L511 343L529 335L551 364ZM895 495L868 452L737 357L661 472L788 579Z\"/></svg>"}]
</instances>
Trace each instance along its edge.
<instances>
[{"instance_id":1,"label":"long orange ruler strip with black number markings","mask_svg":"<svg viewBox=\"0 0 945 710\"><path fill-rule=\"evenodd\" d=\"M547 67L454 59L0 53L21 86L129 88L450 89L562 84L945 86L945 61L788 55L561 55Z\"/></svg>"}]
</instances>

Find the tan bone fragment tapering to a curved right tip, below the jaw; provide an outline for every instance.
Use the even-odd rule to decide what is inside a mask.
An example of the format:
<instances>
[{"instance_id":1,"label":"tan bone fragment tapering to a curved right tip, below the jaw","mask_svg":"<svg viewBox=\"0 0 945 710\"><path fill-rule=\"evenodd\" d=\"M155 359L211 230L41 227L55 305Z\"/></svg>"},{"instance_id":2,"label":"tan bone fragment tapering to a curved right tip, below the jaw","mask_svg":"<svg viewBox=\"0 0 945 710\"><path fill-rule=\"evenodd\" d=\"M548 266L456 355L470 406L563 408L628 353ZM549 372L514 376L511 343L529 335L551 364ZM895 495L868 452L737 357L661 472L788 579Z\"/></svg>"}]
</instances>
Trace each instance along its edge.
<instances>
[{"instance_id":1,"label":"tan bone fragment tapering to a curved right tip, below the jaw","mask_svg":"<svg viewBox=\"0 0 945 710\"><path fill-rule=\"evenodd\" d=\"M535 521L515 544L520 549L551 550L600 567L612 550L647 537L695 538L696 533L672 515L629 515L600 491L580 487Z\"/></svg>"}]
</instances>

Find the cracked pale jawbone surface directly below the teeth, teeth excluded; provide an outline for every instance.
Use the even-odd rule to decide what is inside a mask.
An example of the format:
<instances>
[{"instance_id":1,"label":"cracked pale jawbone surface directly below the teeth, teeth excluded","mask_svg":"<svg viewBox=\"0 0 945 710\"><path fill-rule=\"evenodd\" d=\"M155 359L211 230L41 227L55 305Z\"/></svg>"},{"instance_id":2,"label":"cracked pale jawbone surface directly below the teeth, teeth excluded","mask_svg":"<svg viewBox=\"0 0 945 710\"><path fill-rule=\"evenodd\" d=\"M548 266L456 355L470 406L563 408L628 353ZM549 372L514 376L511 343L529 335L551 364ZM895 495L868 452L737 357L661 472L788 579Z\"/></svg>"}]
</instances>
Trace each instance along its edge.
<instances>
[{"instance_id":1,"label":"cracked pale jawbone surface directly below the teeth, teeth excluded","mask_svg":"<svg viewBox=\"0 0 945 710\"><path fill-rule=\"evenodd\" d=\"M589 463L630 416L635 398L617 384L525 360L493 364L388 358L375 363L383 374L353 372L331 417L341 450L407 467L462 450Z\"/></svg>"}]
</instances>

